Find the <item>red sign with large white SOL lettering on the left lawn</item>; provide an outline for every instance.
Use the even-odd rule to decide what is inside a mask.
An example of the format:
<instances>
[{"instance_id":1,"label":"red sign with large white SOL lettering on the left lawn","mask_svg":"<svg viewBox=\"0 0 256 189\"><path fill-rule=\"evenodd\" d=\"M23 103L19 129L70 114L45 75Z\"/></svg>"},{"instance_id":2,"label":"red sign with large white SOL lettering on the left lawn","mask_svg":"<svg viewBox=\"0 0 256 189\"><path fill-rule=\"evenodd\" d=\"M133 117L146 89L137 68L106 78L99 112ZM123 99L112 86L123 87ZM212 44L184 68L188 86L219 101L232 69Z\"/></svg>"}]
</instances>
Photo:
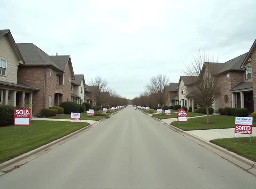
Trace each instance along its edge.
<instances>
[{"instance_id":1,"label":"red sign with large white SOL lettering on the left lawn","mask_svg":"<svg viewBox=\"0 0 256 189\"><path fill-rule=\"evenodd\" d=\"M14 109L14 126L30 126L30 120L30 109Z\"/></svg>"}]
</instances>

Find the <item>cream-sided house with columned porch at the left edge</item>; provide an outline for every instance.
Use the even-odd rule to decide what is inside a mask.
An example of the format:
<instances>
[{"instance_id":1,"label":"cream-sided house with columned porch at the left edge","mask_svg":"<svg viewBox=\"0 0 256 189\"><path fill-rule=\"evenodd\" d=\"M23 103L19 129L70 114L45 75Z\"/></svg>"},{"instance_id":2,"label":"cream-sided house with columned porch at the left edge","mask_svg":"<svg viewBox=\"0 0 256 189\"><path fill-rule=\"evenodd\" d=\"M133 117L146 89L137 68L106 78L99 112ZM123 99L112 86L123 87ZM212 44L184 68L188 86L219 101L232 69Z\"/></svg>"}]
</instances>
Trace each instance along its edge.
<instances>
[{"instance_id":1,"label":"cream-sided house with columned porch at the left edge","mask_svg":"<svg viewBox=\"0 0 256 189\"><path fill-rule=\"evenodd\" d=\"M39 88L18 81L20 66L25 66L10 30L0 30L0 104L12 106L32 104Z\"/></svg>"}]
</instances>

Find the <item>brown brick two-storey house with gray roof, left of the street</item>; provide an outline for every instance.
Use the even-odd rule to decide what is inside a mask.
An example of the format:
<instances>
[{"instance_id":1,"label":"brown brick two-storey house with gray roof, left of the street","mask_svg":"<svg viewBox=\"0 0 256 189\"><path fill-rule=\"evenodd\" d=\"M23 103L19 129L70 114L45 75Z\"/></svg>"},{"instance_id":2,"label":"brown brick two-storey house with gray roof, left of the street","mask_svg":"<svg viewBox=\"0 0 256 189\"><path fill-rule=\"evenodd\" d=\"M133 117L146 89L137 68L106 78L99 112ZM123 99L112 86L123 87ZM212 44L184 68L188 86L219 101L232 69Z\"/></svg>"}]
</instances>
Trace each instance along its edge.
<instances>
[{"instance_id":1,"label":"brown brick two-storey house with gray roof, left of the street","mask_svg":"<svg viewBox=\"0 0 256 189\"><path fill-rule=\"evenodd\" d=\"M42 108L70 101L71 80L75 79L70 56L49 56L33 43L18 43L24 63L18 69L18 81L38 88L33 95L33 114Z\"/></svg>"}]
</instances>

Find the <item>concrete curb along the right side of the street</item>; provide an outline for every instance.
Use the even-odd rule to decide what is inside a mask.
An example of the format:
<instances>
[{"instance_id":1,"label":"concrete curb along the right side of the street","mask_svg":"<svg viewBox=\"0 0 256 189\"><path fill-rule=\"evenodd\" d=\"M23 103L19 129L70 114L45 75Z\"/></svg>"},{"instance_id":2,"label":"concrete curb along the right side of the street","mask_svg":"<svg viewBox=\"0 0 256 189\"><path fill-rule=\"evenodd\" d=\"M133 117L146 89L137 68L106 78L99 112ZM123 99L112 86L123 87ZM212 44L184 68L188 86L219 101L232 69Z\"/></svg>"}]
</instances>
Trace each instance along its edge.
<instances>
[{"instance_id":1,"label":"concrete curb along the right side of the street","mask_svg":"<svg viewBox=\"0 0 256 189\"><path fill-rule=\"evenodd\" d=\"M241 163L244 163L245 165L247 165L247 166L250 167L250 168L249 168L249 169L246 169L246 168L244 168L243 166L240 166L239 164L237 164L236 162L232 162L230 159L221 156L222 158L224 158L224 159L230 161L231 163L234 163L234 164L238 165L239 167L243 168L244 170L249 171L250 173L252 173L253 175L256 176L256 162L253 162L253 161L251 161L251 160L249 160L249 159L247 159L247 158L245 158L245 157L243 157L243 156L241 156L241 155L237 155L237 154L234 153L234 152L231 152L231 151L229 151L229 150L227 150L227 149L225 149L225 148L223 148L223 147L220 147L220 146L218 146L218 145L216 145L216 144L213 144L213 143L211 143L211 142L209 142L209 141L207 141L207 140L204 140L204 139L202 139L202 138L200 138L200 137L197 137L196 135L193 135L193 134L191 134L191 133L189 133L189 132L183 131L183 130L179 129L178 127L175 127L174 125L171 125L171 124L168 125L168 124L162 122L161 119L158 119L158 118L156 118L156 117L153 117L153 118L154 118L156 121L158 121L158 122L164 124L165 126L169 127L169 128L172 129L173 131L178 132L179 134L181 134L181 135L183 135L183 136L185 136L185 137L187 137L187 138L189 138L189 139L193 138L193 139L195 139L195 140L199 140L199 141L203 142L205 145L208 145L208 146L210 146L210 147L213 147L214 149L218 150L219 152L221 152L221 153L223 153L223 154L225 154L225 155L228 155L229 157L234 158L235 160L237 160L237 161L239 161L239 162L241 162ZM195 142L196 142L196 141L195 141ZM204 146L204 147L205 147L205 146ZM208 148L207 148L207 149L208 149ZM209 149L209 150L211 150L211 149ZM211 151L212 151L212 150L211 150ZM213 152L213 151L212 151L212 152ZM215 153L215 152L214 152L214 153ZM216 153L216 154L219 155L218 153Z\"/></svg>"}]
</instances>

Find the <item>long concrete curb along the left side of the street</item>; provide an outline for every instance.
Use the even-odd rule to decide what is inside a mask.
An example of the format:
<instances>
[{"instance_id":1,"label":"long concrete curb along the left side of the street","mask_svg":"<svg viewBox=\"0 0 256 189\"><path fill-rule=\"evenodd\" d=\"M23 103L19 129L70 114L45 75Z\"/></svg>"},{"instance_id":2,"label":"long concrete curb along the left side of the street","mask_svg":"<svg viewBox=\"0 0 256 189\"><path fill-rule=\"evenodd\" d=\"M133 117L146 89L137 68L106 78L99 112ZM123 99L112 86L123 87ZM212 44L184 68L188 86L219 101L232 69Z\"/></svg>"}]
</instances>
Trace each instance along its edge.
<instances>
[{"instance_id":1,"label":"long concrete curb along the left side of the street","mask_svg":"<svg viewBox=\"0 0 256 189\"><path fill-rule=\"evenodd\" d=\"M121 110L123 110L123 109L121 109ZM117 112L119 112L121 110L118 110L115 113L109 115L109 117L113 116L114 114L116 114ZM1 163L0 164L0 170L5 169L5 168L11 166L12 164L17 163L17 162L19 162L19 161L21 161L23 159L29 158L30 156L35 155L35 154L37 154L37 153L39 153L41 151L44 151L45 149L47 149L47 148L49 148L49 147L51 147L51 146L53 146L53 145L55 145L55 144L57 144L57 143L59 143L61 141L64 141L64 140L66 140L68 138L71 138L72 136L74 136L74 135L76 135L76 134L78 134L78 133L80 133L80 132L82 132L84 130L89 130L93 126L100 124L101 122L103 122L106 119L108 119L108 118L104 117L103 119L100 119L99 121L93 123L92 125L87 125L87 126L81 128L81 129L79 129L79 130L77 130L75 132L72 132L72 133L70 133L70 134L68 134L68 135L66 135L66 136L64 136L64 137L62 137L60 139L54 140L54 141L52 141L52 142L50 142L48 144L45 144L44 146L38 147L38 148L36 148L34 150L31 150L31 151L29 151L29 152L27 152L25 154L19 155L19 156L15 157L13 159L10 159L10 160L8 160L8 161L6 161L4 163Z\"/></svg>"}]
</instances>

